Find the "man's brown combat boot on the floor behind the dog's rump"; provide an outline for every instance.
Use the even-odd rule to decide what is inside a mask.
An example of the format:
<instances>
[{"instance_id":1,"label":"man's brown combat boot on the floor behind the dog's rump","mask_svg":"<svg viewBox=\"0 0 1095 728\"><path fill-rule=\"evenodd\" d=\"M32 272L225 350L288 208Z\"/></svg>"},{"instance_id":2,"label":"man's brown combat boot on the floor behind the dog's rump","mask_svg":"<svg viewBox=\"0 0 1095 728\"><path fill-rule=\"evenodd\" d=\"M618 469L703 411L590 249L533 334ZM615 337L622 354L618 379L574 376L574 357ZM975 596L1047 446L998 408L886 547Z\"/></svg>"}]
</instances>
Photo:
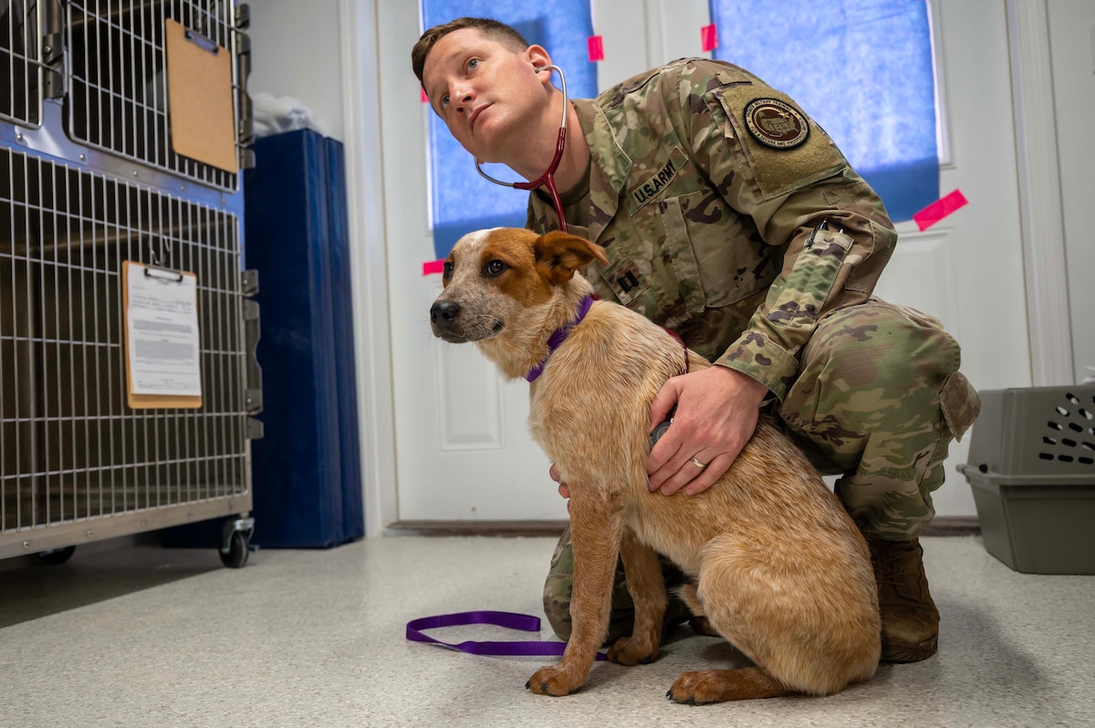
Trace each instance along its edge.
<instances>
[{"instance_id":1,"label":"man's brown combat boot on the floor behind the dog's rump","mask_svg":"<svg viewBox=\"0 0 1095 728\"><path fill-rule=\"evenodd\" d=\"M867 539L878 582L883 661L918 662L938 647L940 612L927 592L920 541Z\"/></svg>"}]
</instances>

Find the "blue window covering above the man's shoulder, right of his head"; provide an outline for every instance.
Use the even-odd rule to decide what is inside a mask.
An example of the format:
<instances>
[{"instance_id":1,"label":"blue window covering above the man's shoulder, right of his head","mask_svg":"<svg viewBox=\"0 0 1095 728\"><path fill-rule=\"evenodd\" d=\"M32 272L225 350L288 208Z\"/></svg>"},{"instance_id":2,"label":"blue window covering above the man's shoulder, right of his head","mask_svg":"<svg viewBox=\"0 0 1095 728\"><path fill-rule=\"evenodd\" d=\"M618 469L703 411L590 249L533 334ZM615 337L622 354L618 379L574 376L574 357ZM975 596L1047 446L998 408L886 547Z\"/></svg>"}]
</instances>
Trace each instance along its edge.
<instances>
[{"instance_id":1,"label":"blue window covering above the man's shoulder, right of his head","mask_svg":"<svg viewBox=\"0 0 1095 728\"><path fill-rule=\"evenodd\" d=\"M940 197L925 0L711 0L715 58L788 94L895 221Z\"/></svg>"}]
</instances>

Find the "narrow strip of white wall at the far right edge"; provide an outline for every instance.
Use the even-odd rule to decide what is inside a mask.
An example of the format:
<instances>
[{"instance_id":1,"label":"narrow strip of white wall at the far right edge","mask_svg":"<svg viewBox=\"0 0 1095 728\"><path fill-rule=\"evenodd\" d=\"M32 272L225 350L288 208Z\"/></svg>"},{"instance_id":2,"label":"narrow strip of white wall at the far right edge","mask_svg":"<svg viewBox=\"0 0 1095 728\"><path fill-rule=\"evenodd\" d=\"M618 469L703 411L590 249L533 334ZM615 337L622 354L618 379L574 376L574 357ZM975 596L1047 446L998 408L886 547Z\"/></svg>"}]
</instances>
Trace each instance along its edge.
<instances>
[{"instance_id":1,"label":"narrow strip of white wall at the far right edge","mask_svg":"<svg viewBox=\"0 0 1095 728\"><path fill-rule=\"evenodd\" d=\"M1091 208L1095 201L1095 2L1052 0L1049 9L1050 62L1060 157L1064 255L1069 277L1072 355L1076 381L1095 367L1095 244Z\"/></svg>"}]
</instances>

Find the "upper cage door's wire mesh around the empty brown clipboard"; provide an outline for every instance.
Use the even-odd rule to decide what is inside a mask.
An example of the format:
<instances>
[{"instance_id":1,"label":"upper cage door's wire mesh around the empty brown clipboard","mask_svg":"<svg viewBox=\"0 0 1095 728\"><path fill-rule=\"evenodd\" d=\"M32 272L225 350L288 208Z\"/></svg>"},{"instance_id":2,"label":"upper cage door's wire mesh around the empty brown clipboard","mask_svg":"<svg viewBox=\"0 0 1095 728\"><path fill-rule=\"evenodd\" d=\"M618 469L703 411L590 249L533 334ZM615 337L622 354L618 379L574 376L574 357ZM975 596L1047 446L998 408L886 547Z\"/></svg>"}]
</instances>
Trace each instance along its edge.
<instances>
[{"instance_id":1,"label":"upper cage door's wire mesh around the empty brown clipboard","mask_svg":"<svg viewBox=\"0 0 1095 728\"><path fill-rule=\"evenodd\" d=\"M91 147L196 180L219 189L239 188L239 174L176 154L168 120L164 23L174 20L250 58L237 32L235 7L222 0L80 0L68 3L69 136ZM249 141L246 69L232 65L237 143Z\"/></svg>"}]
</instances>

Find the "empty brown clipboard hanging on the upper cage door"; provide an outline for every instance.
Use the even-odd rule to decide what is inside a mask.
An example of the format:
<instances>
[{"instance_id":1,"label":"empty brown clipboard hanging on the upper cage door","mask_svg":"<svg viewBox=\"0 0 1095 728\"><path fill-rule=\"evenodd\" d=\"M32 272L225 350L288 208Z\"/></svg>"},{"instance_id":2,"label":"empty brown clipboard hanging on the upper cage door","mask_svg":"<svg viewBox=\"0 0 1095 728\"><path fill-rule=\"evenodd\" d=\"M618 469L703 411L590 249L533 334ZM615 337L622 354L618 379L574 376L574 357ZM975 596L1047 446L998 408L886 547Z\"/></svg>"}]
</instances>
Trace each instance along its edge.
<instances>
[{"instance_id":1,"label":"empty brown clipboard hanging on the upper cage door","mask_svg":"<svg viewBox=\"0 0 1095 728\"><path fill-rule=\"evenodd\" d=\"M176 154L239 172L231 54L196 31L164 21L168 117Z\"/></svg>"}]
</instances>

